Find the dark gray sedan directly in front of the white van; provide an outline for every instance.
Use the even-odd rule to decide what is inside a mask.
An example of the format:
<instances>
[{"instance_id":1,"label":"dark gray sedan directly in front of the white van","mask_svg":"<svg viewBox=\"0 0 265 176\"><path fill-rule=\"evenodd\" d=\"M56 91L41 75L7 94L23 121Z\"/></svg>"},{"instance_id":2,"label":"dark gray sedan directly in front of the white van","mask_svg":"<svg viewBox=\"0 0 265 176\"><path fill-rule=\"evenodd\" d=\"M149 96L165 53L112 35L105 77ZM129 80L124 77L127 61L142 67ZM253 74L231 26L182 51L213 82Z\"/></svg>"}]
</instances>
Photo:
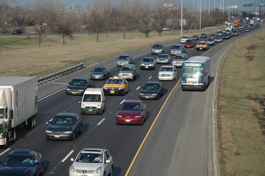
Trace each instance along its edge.
<instances>
[{"instance_id":1,"label":"dark gray sedan directly in front of the white van","mask_svg":"<svg viewBox=\"0 0 265 176\"><path fill-rule=\"evenodd\" d=\"M82 133L82 119L75 113L58 113L46 129L46 139L74 140L75 134Z\"/></svg>"}]
</instances>

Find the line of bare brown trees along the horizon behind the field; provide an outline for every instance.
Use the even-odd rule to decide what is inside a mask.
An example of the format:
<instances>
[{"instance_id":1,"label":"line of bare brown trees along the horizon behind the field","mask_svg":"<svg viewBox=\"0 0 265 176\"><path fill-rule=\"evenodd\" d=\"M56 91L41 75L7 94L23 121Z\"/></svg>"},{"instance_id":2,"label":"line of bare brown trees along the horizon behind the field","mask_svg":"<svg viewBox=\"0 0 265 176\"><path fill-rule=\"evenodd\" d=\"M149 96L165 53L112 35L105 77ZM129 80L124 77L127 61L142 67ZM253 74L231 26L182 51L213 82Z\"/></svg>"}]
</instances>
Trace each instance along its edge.
<instances>
[{"instance_id":1,"label":"line of bare brown trees along the horizon behind the field","mask_svg":"<svg viewBox=\"0 0 265 176\"><path fill-rule=\"evenodd\" d=\"M140 31L148 37L149 31L155 30L161 34L163 27L168 26L174 34L181 26L181 2L174 0L119 0L117 3L99 0L88 4L88 10L69 10L64 4L49 0L38 0L28 7L10 6L5 0L0 2L1 33L11 33L14 28L24 30L34 25L41 33L62 29L97 34L107 31ZM210 14L202 12L201 27L224 23L226 18L226 14L218 11ZM183 3L183 26L199 29L199 21L198 9Z\"/></svg>"}]
</instances>

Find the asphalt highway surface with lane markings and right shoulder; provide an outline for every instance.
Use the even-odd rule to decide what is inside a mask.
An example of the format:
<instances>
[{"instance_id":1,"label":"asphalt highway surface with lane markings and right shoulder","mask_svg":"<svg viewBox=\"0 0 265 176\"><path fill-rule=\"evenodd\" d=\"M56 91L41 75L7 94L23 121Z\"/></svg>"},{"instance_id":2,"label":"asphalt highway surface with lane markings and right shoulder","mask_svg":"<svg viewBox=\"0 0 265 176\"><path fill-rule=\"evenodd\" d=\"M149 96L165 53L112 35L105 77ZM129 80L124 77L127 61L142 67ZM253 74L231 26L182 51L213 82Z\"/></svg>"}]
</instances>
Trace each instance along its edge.
<instances>
[{"instance_id":1,"label":"asphalt highway surface with lane markings and right shoulder","mask_svg":"<svg viewBox=\"0 0 265 176\"><path fill-rule=\"evenodd\" d=\"M141 87L146 82L158 81L158 70L162 64L157 64L154 71L140 70L143 57L156 57L151 56L151 46L131 53L137 67L137 79L128 81L129 92L125 96L105 96L106 112L102 115L81 115L83 132L76 135L74 141L46 140L47 122L59 112L80 114L82 97L65 94L68 82L74 77L89 77L96 66L108 67L111 75L117 76L116 57L39 86L36 127L27 130L20 125L17 129L18 141L9 144L7 149L0 149L0 160L4 160L14 149L29 149L42 154L43 175L65 176L72 164L70 158L75 158L84 147L107 148L113 157L115 176L208 175L208 119L219 57L236 40L263 28L264 24L261 24L260 28L254 27L250 32L239 31L238 36L209 46L208 51L196 51L196 46L185 48L188 57L203 55L211 58L209 87L204 92L182 91L181 68L177 68L176 81L161 81L165 91L159 100L143 100L148 111L143 126L116 125L115 114L124 99L139 99ZM202 40L207 39L199 39ZM177 43L180 40L164 43L165 53L170 54L170 48ZM103 87L103 82L92 80L92 88ZM137 155L139 152L140 155Z\"/></svg>"}]
</instances>

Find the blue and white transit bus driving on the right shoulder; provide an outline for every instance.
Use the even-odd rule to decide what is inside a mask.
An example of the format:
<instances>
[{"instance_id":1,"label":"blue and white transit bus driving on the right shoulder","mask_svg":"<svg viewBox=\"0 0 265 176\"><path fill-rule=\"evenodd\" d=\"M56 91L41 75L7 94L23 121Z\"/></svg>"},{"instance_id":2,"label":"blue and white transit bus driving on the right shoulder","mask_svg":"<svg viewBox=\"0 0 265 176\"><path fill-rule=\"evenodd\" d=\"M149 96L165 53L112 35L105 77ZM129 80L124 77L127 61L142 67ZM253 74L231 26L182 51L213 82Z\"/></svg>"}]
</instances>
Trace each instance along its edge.
<instances>
[{"instance_id":1,"label":"blue and white transit bus driving on the right shoulder","mask_svg":"<svg viewBox=\"0 0 265 176\"><path fill-rule=\"evenodd\" d=\"M182 90L205 90L210 84L210 58L204 56L190 57L182 62Z\"/></svg>"}]
</instances>

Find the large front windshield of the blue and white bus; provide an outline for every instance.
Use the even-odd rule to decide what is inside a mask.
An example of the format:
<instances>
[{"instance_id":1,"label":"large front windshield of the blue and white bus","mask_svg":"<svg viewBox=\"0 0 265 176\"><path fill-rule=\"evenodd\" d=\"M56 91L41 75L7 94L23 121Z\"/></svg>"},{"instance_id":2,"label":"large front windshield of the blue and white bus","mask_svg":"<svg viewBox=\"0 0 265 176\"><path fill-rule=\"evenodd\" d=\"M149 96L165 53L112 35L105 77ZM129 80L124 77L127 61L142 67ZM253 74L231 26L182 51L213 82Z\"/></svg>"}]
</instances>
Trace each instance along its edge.
<instances>
[{"instance_id":1,"label":"large front windshield of the blue and white bus","mask_svg":"<svg viewBox=\"0 0 265 176\"><path fill-rule=\"evenodd\" d=\"M203 67L182 67L182 77L203 78Z\"/></svg>"}]
</instances>

